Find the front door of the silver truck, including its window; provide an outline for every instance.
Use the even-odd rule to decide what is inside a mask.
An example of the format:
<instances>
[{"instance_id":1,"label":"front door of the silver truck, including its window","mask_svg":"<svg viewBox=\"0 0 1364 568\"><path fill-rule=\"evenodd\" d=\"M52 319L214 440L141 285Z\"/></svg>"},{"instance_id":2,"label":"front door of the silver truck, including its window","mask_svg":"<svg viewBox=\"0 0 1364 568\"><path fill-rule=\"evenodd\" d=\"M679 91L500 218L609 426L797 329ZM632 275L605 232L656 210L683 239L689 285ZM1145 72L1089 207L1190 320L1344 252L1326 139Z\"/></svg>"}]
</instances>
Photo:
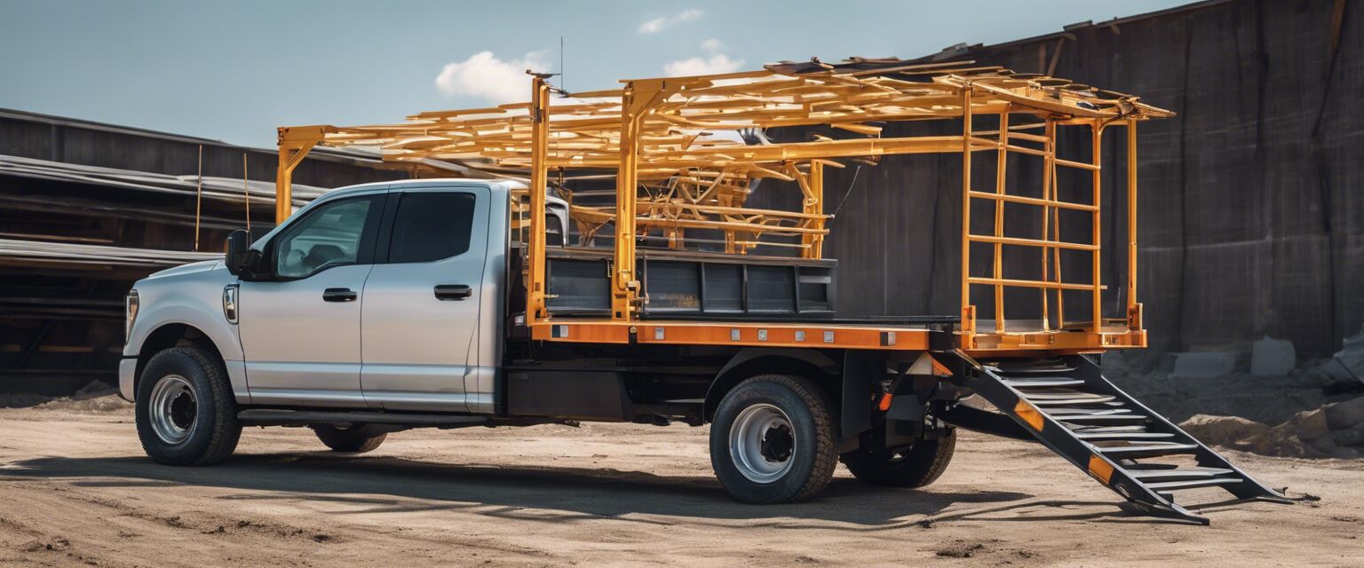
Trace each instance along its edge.
<instances>
[{"instance_id":1,"label":"front door of the silver truck, including its window","mask_svg":"<svg viewBox=\"0 0 1364 568\"><path fill-rule=\"evenodd\" d=\"M254 402L364 406L360 291L382 214L383 193L337 199L266 244L270 279L239 285L237 332Z\"/></svg>"}]
</instances>

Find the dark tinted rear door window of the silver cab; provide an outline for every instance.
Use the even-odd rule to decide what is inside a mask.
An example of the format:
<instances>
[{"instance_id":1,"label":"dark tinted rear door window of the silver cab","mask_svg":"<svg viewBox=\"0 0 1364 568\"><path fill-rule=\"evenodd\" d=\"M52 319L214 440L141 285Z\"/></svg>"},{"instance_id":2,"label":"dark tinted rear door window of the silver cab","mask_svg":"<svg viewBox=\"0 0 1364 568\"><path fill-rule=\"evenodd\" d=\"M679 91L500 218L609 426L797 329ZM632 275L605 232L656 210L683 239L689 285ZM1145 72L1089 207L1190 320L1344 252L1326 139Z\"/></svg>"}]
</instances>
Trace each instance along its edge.
<instances>
[{"instance_id":1,"label":"dark tinted rear door window of the silver cab","mask_svg":"<svg viewBox=\"0 0 1364 568\"><path fill-rule=\"evenodd\" d=\"M390 263L428 263L469 249L473 193L405 193L393 218Z\"/></svg>"}]
</instances>

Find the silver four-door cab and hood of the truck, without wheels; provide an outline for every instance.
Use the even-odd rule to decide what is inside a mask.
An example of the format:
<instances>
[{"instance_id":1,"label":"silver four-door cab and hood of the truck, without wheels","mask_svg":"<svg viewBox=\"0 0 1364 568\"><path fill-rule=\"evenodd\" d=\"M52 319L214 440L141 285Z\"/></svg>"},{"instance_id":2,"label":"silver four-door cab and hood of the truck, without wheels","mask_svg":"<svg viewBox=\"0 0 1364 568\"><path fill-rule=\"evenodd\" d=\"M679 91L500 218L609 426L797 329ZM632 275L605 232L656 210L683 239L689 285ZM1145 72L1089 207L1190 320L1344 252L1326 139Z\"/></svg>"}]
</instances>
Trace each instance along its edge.
<instances>
[{"instance_id":1,"label":"silver four-door cab and hood of the truck, without wheels","mask_svg":"<svg viewBox=\"0 0 1364 568\"><path fill-rule=\"evenodd\" d=\"M120 392L136 398L143 347L180 326L211 339L241 405L492 411L514 188L346 188L251 244L239 274L207 262L138 282Z\"/></svg>"}]
</instances>

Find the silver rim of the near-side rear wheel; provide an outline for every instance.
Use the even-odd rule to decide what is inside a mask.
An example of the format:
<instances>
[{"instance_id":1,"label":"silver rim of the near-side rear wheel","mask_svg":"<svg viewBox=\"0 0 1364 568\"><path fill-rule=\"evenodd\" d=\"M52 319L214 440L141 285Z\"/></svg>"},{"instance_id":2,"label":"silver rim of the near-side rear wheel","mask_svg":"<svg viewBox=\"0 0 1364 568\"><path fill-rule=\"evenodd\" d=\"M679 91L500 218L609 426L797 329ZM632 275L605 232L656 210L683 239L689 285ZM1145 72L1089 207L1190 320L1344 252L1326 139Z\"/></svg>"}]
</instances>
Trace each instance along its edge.
<instances>
[{"instance_id":1,"label":"silver rim of the near-side rear wheel","mask_svg":"<svg viewBox=\"0 0 1364 568\"><path fill-rule=\"evenodd\" d=\"M730 458L752 482L771 484L791 470L797 451L791 418L776 406L753 405L734 418Z\"/></svg>"}]
</instances>

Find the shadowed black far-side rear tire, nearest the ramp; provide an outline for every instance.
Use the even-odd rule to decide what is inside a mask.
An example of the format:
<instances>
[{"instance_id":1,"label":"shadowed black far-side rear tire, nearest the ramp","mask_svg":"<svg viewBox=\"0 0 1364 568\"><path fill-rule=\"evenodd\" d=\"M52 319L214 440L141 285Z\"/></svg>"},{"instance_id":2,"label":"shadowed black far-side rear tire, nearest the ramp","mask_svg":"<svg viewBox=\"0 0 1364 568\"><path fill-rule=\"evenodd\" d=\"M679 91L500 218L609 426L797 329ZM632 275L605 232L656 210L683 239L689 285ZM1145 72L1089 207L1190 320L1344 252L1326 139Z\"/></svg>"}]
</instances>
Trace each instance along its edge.
<instances>
[{"instance_id":1,"label":"shadowed black far-side rear tire, nearest the ramp","mask_svg":"<svg viewBox=\"0 0 1364 568\"><path fill-rule=\"evenodd\" d=\"M917 440L907 449L854 449L839 456L858 481L887 488L922 488L937 481L956 451L956 429Z\"/></svg>"}]
</instances>

